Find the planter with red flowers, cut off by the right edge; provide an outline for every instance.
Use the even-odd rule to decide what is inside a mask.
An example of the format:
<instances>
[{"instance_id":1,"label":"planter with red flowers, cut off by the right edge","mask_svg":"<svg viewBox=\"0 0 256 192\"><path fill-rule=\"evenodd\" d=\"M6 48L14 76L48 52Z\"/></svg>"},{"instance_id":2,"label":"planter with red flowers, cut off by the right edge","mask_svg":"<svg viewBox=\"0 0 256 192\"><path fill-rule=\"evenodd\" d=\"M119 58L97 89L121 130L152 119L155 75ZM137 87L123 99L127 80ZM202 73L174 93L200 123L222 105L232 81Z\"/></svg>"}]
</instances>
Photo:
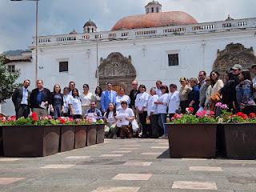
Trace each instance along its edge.
<instances>
[{"instance_id":1,"label":"planter with red flowers, cut off by the right edge","mask_svg":"<svg viewBox=\"0 0 256 192\"><path fill-rule=\"evenodd\" d=\"M238 112L232 114L226 108L218 117L224 133L226 158L256 159L256 116Z\"/></svg>"}]
</instances>

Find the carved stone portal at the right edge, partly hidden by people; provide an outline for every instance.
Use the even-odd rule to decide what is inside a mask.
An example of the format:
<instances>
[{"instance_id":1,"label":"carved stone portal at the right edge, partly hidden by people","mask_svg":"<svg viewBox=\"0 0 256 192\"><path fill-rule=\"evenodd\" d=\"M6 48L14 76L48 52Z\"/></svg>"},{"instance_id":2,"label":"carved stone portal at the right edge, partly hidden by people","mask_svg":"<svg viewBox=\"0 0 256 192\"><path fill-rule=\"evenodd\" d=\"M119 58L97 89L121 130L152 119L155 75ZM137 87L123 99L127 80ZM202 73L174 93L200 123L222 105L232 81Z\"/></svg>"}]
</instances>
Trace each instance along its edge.
<instances>
[{"instance_id":1,"label":"carved stone portal at the right edge, partly hidden by people","mask_svg":"<svg viewBox=\"0 0 256 192\"><path fill-rule=\"evenodd\" d=\"M220 73L220 78L223 79L226 70L230 70L234 64L240 64L244 70L250 70L254 63L256 63L256 57L253 47L247 49L240 43L230 43L225 50L218 50L213 69L217 70Z\"/></svg>"}]
</instances>

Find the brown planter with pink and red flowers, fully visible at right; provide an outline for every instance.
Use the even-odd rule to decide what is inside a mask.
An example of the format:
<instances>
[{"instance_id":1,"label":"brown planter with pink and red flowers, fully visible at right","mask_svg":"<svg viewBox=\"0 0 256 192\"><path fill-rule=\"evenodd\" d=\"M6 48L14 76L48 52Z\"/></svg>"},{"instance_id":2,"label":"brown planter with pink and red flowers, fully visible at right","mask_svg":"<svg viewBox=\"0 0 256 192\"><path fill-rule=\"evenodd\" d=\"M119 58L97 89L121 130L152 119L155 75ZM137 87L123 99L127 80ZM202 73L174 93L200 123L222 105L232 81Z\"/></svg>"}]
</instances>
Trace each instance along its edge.
<instances>
[{"instance_id":1,"label":"brown planter with pink and red flowers, fully visible at right","mask_svg":"<svg viewBox=\"0 0 256 192\"><path fill-rule=\"evenodd\" d=\"M202 110L197 114L175 114L166 123L171 158L214 158L216 150L216 118Z\"/></svg>"}]
</instances>

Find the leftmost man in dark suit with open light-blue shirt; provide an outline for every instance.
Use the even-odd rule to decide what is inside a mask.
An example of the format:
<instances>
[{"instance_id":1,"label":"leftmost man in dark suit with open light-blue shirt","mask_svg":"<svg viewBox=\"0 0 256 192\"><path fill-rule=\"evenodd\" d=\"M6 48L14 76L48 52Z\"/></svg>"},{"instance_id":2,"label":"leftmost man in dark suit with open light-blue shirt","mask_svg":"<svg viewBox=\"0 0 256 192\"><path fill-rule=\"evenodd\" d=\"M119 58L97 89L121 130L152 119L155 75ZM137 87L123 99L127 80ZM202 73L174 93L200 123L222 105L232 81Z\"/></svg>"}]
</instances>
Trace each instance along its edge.
<instances>
[{"instance_id":1,"label":"leftmost man in dark suit with open light-blue shirt","mask_svg":"<svg viewBox=\"0 0 256 192\"><path fill-rule=\"evenodd\" d=\"M30 90L27 88L30 86L30 80L26 79L23 82L23 86L17 88L14 91L12 100L14 102L16 118L28 118L30 114Z\"/></svg>"}]
</instances>

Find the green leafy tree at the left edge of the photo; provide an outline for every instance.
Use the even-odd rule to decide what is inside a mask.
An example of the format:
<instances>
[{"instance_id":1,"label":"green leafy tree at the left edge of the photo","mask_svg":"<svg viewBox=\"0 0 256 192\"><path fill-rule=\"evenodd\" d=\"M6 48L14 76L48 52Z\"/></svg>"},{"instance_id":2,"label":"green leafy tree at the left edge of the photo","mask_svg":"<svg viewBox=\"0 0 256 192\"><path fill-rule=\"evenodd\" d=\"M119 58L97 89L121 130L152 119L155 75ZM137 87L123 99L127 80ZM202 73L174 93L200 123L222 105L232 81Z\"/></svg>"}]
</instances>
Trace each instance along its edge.
<instances>
[{"instance_id":1,"label":"green leafy tree at the left edge of the photo","mask_svg":"<svg viewBox=\"0 0 256 192\"><path fill-rule=\"evenodd\" d=\"M0 55L0 103L11 98L14 90L20 86L15 83L19 76L19 71L9 72L5 63L7 58L5 55Z\"/></svg>"}]
</instances>

